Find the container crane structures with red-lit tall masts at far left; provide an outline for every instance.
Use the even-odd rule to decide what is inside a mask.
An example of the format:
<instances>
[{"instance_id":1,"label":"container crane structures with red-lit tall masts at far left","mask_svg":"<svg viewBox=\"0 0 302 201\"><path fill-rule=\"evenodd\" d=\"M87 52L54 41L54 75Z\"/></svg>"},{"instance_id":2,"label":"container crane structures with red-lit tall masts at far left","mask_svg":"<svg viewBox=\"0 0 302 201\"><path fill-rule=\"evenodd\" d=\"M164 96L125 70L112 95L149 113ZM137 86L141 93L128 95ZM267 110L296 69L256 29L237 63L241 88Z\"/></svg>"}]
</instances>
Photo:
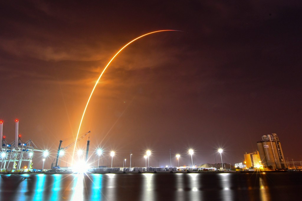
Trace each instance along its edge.
<instances>
[{"instance_id":1,"label":"container crane structures with red-lit tall masts at far left","mask_svg":"<svg viewBox=\"0 0 302 201\"><path fill-rule=\"evenodd\" d=\"M34 152L42 152L48 154L47 151L38 149L34 142L30 139L23 142L21 134L19 134L19 120L15 120L15 140L8 143L6 136L3 136L3 121L0 120L0 133L2 139L1 146L1 171L32 171L32 158Z\"/></svg>"}]
</instances>

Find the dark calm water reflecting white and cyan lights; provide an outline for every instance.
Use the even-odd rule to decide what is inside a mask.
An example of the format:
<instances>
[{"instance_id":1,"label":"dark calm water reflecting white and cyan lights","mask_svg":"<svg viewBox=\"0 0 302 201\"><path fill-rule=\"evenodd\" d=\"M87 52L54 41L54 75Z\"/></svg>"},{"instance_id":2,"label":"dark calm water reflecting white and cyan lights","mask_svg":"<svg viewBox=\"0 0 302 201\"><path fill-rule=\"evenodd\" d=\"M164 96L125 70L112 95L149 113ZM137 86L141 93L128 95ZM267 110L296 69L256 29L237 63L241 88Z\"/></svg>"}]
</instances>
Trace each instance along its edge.
<instances>
[{"instance_id":1,"label":"dark calm water reflecting white and cyan lights","mask_svg":"<svg viewBox=\"0 0 302 201\"><path fill-rule=\"evenodd\" d=\"M302 173L1 175L1 200L300 200Z\"/></svg>"}]
</instances>

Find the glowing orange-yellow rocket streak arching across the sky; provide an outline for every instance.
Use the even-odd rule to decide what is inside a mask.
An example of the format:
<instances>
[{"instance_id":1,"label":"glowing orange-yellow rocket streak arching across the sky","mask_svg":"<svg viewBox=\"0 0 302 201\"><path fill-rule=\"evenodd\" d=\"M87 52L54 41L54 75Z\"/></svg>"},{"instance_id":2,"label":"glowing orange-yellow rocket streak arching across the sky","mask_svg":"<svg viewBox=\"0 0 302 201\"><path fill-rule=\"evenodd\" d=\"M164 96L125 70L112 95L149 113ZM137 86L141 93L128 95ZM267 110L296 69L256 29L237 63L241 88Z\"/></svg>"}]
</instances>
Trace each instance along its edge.
<instances>
[{"instance_id":1,"label":"glowing orange-yellow rocket streak arching across the sky","mask_svg":"<svg viewBox=\"0 0 302 201\"><path fill-rule=\"evenodd\" d=\"M88 104L89 104L89 101L90 101L90 99L91 99L91 97L92 97L93 91L95 90L96 85L98 85L98 81L101 79L102 75L104 74L105 70L107 69L107 67L109 66L109 64L112 62L112 60L113 60L113 59L114 59L114 58L115 58L115 57L116 57L116 56L117 56L117 55L118 55L125 47L127 47L129 44L131 44L132 42L136 41L137 39L140 39L140 38L142 38L142 37L144 37L144 36L147 36L147 35L150 35L150 34L154 34L154 33L157 33L157 32L162 32L162 31L179 31L179 30L159 30L159 31L153 31L153 32L144 34L144 35L142 35L142 36L140 36L140 37L137 37L136 39L131 40L129 43L127 43L124 47L122 47L122 48L121 48L121 49L120 49L120 50L112 57L112 59L109 61L109 63L106 65L106 67L105 67L104 70L102 71L101 75L98 77L98 80L95 82L95 86L93 87L93 89L92 89L92 91L91 91L91 94L90 94L90 96L89 96L89 98L88 98L87 104L86 104L86 106L85 106L85 109L84 109L84 112L83 112L83 115L82 115L82 119L81 119L81 122L80 122L80 126L79 126L79 129L78 129L78 133L77 133L77 135L76 135L76 139L78 139L79 132L80 132L81 125L82 125L82 121L83 121L83 118L84 118L84 115L85 115L87 106L88 106ZM75 150L76 150L76 143L75 143L75 146L74 146L73 152L72 152L71 165L72 165L72 163L73 163L73 156L74 156L74 154L75 154Z\"/></svg>"}]
</instances>

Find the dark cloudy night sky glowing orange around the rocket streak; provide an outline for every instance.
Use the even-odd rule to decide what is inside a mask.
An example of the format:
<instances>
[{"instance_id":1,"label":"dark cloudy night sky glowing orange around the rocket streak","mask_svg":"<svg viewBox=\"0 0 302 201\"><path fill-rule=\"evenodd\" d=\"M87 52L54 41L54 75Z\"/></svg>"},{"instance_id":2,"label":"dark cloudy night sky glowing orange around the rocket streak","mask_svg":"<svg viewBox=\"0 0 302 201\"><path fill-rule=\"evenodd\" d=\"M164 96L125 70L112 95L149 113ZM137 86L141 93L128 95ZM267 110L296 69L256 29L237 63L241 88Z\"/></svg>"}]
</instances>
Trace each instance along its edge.
<instances>
[{"instance_id":1,"label":"dark cloudy night sky glowing orange around the rocket streak","mask_svg":"<svg viewBox=\"0 0 302 201\"><path fill-rule=\"evenodd\" d=\"M80 133L90 162L114 166L238 163L277 133L284 157L302 160L300 1L2 1L0 118L8 142L52 153ZM86 149L87 137L76 149ZM73 147L66 150L72 152ZM219 158L218 158L219 157ZM34 167L41 168L36 152ZM63 156L71 161L70 153ZM97 161L96 161L97 164ZM100 165L102 162L100 162Z\"/></svg>"}]
</instances>

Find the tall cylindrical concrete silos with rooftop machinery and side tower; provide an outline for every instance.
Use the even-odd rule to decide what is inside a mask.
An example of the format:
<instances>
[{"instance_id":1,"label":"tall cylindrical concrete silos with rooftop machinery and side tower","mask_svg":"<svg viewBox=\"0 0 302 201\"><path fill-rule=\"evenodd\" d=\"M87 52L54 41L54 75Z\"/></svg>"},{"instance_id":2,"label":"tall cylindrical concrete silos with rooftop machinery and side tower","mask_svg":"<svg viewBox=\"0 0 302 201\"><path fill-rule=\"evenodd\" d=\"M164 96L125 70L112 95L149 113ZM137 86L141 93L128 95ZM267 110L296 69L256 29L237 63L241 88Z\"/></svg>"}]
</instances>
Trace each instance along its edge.
<instances>
[{"instance_id":1,"label":"tall cylindrical concrete silos with rooftop machinery and side tower","mask_svg":"<svg viewBox=\"0 0 302 201\"><path fill-rule=\"evenodd\" d=\"M262 141L257 142L262 165L269 169L286 169L281 142L276 133L262 136Z\"/></svg>"}]
</instances>

